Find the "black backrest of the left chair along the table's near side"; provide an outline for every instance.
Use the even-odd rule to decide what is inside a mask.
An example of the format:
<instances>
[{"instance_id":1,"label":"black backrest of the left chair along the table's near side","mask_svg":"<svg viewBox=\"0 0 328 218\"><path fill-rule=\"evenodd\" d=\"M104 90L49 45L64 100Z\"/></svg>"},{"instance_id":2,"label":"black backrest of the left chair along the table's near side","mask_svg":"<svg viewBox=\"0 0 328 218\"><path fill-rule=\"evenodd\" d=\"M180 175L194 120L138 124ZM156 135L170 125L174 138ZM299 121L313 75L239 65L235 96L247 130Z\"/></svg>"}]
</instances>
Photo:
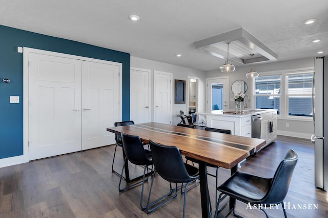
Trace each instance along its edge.
<instances>
[{"instance_id":1,"label":"black backrest of the left chair along the table's near side","mask_svg":"<svg viewBox=\"0 0 328 218\"><path fill-rule=\"evenodd\" d=\"M145 165L149 162L141 139L136 135L128 135L121 132L123 149L128 160L136 165Z\"/></svg>"}]
</instances>

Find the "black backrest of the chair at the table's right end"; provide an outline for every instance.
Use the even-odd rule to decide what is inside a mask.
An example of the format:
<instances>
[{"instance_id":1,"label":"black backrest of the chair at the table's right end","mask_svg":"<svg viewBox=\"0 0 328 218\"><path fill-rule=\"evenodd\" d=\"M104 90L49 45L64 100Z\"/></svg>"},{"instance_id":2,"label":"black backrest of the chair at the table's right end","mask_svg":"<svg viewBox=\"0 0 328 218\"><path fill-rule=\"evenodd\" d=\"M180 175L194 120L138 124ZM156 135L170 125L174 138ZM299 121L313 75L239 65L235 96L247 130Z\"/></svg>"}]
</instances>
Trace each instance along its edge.
<instances>
[{"instance_id":1,"label":"black backrest of the chair at the table's right end","mask_svg":"<svg viewBox=\"0 0 328 218\"><path fill-rule=\"evenodd\" d=\"M262 199L263 203L270 202L271 204L276 204L283 201L287 195L297 160L297 154L292 149L289 150L277 167L276 173L272 178L271 188Z\"/></svg>"}]
</instances>

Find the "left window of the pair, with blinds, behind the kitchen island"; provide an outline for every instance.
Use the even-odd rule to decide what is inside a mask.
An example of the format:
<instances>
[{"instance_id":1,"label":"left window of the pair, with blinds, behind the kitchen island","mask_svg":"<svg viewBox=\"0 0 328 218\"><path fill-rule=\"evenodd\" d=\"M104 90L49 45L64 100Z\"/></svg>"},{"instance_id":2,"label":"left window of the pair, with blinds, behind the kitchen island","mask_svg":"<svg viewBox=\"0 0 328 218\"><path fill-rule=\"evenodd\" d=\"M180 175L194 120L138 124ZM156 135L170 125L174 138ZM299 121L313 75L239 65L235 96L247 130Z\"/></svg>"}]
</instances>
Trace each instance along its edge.
<instances>
[{"instance_id":1,"label":"left window of the pair, with blinds, behind the kitchen island","mask_svg":"<svg viewBox=\"0 0 328 218\"><path fill-rule=\"evenodd\" d=\"M255 107L280 113L281 75L255 78Z\"/></svg>"}]
</instances>

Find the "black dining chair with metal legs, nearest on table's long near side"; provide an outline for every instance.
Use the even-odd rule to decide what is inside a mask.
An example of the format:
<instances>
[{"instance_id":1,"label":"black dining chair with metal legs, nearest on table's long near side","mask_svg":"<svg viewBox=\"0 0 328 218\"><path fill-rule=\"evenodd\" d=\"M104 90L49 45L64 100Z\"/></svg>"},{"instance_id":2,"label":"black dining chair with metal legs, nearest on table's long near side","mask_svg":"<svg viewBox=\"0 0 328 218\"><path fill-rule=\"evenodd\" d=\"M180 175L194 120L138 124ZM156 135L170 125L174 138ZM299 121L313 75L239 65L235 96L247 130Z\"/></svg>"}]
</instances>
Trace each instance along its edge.
<instances>
[{"instance_id":1,"label":"black dining chair with metal legs, nearest on table's long near side","mask_svg":"<svg viewBox=\"0 0 328 218\"><path fill-rule=\"evenodd\" d=\"M185 217L186 200L188 186L199 178L199 171L196 167L183 162L179 149L175 146L164 146L149 139L150 150L155 166L155 171L152 175L152 183L149 190L147 212L151 213L158 207L167 203L177 196L177 183L186 183L185 198L183 201L183 217ZM160 177L170 182L170 190L167 195L150 203L151 192L154 185L155 173ZM172 188L172 183L175 183L175 188ZM172 192L175 190L174 195ZM171 196L172 195L172 196ZM160 202L160 203L159 203ZM154 205L154 206L153 206Z\"/></svg>"}]
</instances>

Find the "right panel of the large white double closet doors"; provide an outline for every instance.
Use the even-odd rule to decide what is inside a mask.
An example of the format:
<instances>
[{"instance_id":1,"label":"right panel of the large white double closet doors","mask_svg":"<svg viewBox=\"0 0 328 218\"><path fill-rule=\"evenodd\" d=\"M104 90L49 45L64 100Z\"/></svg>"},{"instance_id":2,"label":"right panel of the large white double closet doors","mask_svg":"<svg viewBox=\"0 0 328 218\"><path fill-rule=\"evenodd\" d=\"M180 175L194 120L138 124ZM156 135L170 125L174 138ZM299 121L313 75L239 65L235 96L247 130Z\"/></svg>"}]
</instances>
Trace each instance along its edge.
<instances>
[{"instance_id":1,"label":"right panel of the large white double closet doors","mask_svg":"<svg viewBox=\"0 0 328 218\"><path fill-rule=\"evenodd\" d=\"M119 117L119 66L82 61L82 150L115 143L106 131Z\"/></svg>"}]
</instances>

